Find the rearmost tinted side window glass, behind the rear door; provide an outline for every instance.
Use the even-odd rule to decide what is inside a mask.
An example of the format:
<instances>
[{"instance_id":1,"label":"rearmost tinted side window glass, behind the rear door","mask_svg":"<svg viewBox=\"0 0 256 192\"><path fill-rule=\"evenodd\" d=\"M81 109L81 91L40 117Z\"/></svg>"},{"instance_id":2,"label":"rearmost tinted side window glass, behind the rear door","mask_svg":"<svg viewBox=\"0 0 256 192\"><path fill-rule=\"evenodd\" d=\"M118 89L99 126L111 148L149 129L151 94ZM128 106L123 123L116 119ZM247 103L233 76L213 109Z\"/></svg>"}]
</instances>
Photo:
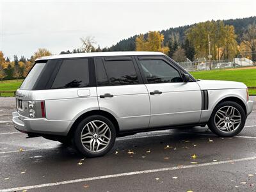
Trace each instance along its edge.
<instances>
[{"instance_id":1,"label":"rearmost tinted side window glass, behind the rear door","mask_svg":"<svg viewBox=\"0 0 256 192\"><path fill-rule=\"evenodd\" d=\"M52 89L89 86L88 59L63 60Z\"/></svg>"}]
</instances>

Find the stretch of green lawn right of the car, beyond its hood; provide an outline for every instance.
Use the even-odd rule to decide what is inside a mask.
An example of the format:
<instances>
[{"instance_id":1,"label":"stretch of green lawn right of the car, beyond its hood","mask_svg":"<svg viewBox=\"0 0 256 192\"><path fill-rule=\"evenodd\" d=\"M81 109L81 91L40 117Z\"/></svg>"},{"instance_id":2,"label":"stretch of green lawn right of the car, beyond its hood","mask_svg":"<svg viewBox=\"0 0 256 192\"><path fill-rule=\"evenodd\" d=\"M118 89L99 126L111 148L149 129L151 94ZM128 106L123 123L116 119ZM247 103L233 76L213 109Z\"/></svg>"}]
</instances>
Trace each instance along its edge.
<instances>
[{"instance_id":1,"label":"stretch of green lawn right of the car, beyond its hood","mask_svg":"<svg viewBox=\"0 0 256 192\"><path fill-rule=\"evenodd\" d=\"M256 86L256 68L234 70L204 70L191 74L196 79L239 81L246 86ZM250 95L256 95L256 90L249 90Z\"/></svg>"}]
</instances>

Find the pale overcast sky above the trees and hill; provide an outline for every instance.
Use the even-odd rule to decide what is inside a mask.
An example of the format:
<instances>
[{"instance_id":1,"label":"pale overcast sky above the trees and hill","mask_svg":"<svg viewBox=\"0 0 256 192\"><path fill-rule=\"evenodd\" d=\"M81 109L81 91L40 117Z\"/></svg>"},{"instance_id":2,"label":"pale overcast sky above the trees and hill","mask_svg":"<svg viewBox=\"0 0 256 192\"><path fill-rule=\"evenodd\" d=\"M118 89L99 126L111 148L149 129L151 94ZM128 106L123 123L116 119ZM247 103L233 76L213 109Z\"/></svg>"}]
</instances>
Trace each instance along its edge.
<instances>
[{"instance_id":1,"label":"pale overcast sky above the trees and hill","mask_svg":"<svg viewBox=\"0 0 256 192\"><path fill-rule=\"evenodd\" d=\"M53 54L81 47L94 36L100 47L150 30L256 15L255 0L4 1L0 0L0 50L29 58L45 47Z\"/></svg>"}]
</instances>

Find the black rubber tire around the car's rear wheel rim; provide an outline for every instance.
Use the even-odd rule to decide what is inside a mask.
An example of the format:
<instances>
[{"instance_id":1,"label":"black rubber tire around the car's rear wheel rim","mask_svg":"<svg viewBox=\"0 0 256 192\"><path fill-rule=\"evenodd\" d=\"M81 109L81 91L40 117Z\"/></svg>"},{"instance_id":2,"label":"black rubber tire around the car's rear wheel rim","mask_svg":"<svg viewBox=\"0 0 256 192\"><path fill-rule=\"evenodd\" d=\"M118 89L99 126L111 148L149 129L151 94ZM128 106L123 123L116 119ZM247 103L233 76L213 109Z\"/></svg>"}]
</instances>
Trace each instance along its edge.
<instances>
[{"instance_id":1,"label":"black rubber tire around the car's rear wheel rim","mask_svg":"<svg viewBox=\"0 0 256 192\"><path fill-rule=\"evenodd\" d=\"M99 152L92 152L92 150L89 150L88 148L84 147L84 145L83 145L83 143L81 141L81 134L83 132L84 127L89 122L92 122L92 121L104 122L104 124L108 125L109 130L111 132L111 136L109 136L110 140L108 141L109 142L108 145L104 149L100 150ZM109 150L111 150L111 148L113 147L113 145L115 143L115 140L116 140L116 129L115 129L113 123L108 118L106 118L105 116L102 116L102 115L88 116L87 118L82 120L77 125L77 129L74 132L74 145L77 148L77 150L79 150L79 152L81 152L81 154L83 154L84 157L100 157L100 156L104 156L105 154L107 154L109 152Z\"/></svg>"}]
</instances>

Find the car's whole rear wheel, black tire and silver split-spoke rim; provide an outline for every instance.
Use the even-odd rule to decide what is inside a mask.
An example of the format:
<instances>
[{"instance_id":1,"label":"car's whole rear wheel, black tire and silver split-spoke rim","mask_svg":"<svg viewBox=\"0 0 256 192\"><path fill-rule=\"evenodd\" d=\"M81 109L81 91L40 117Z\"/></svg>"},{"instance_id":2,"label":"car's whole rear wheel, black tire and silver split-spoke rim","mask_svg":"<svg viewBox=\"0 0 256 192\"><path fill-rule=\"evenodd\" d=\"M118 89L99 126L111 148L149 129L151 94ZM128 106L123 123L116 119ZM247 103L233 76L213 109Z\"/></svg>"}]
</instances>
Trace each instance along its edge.
<instances>
[{"instance_id":1,"label":"car's whole rear wheel, black tire and silver split-spoke rim","mask_svg":"<svg viewBox=\"0 0 256 192\"><path fill-rule=\"evenodd\" d=\"M104 156L113 147L115 139L113 123L101 115L82 120L74 133L74 144L85 157Z\"/></svg>"}]
</instances>

